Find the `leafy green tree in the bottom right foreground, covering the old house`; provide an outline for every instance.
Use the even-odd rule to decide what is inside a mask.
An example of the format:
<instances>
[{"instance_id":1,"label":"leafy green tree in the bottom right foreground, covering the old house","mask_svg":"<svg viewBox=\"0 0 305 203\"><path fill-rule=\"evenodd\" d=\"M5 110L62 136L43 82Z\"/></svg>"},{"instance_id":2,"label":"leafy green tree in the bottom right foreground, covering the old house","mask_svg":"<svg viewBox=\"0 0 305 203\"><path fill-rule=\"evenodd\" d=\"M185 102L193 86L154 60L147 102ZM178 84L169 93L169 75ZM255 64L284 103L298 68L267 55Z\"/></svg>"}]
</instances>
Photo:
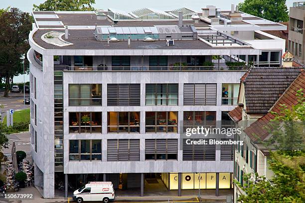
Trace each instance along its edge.
<instances>
[{"instance_id":1,"label":"leafy green tree in the bottom right foreground, covering the old house","mask_svg":"<svg viewBox=\"0 0 305 203\"><path fill-rule=\"evenodd\" d=\"M298 104L288 108L282 105L280 112L268 126L271 138L263 143L271 153L270 169L274 172L272 184L256 174L243 177L241 186L246 193L239 201L245 203L304 203L305 202L305 98L303 90L297 93ZM273 149L273 151L271 151ZM255 183L255 184L254 184Z\"/></svg>"}]
</instances>

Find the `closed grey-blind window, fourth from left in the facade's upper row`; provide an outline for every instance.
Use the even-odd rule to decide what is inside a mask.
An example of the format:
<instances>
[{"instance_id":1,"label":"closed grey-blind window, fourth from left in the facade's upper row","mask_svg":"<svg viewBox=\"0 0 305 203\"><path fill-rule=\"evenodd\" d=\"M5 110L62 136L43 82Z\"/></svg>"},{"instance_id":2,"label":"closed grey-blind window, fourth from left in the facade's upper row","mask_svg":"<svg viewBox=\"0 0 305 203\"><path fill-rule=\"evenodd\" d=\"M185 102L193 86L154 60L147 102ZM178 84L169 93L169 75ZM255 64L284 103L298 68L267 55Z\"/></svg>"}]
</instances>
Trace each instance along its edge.
<instances>
[{"instance_id":1,"label":"closed grey-blind window, fourth from left in the facade's upper row","mask_svg":"<svg viewBox=\"0 0 305 203\"><path fill-rule=\"evenodd\" d=\"M184 84L184 105L216 105L216 84Z\"/></svg>"}]
</instances>

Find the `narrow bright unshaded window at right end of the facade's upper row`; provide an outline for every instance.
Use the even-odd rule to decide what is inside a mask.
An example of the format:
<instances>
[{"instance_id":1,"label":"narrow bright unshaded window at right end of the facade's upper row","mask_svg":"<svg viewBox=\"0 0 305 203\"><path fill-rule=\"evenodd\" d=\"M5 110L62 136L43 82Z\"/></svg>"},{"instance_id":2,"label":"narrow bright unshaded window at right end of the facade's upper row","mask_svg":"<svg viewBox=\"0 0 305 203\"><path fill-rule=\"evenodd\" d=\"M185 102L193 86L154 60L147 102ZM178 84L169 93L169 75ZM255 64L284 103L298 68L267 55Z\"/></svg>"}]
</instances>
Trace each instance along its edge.
<instances>
[{"instance_id":1,"label":"narrow bright unshaded window at right end of the facade's upper row","mask_svg":"<svg viewBox=\"0 0 305 203\"><path fill-rule=\"evenodd\" d=\"M222 84L222 105L236 105L239 93L239 84Z\"/></svg>"}]
</instances>

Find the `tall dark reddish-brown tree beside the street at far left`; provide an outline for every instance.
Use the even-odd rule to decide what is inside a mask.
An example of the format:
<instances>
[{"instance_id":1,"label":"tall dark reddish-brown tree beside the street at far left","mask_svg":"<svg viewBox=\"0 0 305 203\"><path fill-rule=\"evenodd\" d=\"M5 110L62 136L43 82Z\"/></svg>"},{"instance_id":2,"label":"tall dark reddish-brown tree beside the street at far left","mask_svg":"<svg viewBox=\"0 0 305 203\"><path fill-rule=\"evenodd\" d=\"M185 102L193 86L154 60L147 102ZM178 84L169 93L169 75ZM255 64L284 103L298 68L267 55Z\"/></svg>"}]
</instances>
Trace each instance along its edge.
<instances>
[{"instance_id":1,"label":"tall dark reddish-brown tree beside the street at far left","mask_svg":"<svg viewBox=\"0 0 305 203\"><path fill-rule=\"evenodd\" d=\"M8 97L9 78L23 73L20 57L29 49L31 17L18 8L10 8L0 15L0 27L0 73L5 78L4 97Z\"/></svg>"}]
</instances>

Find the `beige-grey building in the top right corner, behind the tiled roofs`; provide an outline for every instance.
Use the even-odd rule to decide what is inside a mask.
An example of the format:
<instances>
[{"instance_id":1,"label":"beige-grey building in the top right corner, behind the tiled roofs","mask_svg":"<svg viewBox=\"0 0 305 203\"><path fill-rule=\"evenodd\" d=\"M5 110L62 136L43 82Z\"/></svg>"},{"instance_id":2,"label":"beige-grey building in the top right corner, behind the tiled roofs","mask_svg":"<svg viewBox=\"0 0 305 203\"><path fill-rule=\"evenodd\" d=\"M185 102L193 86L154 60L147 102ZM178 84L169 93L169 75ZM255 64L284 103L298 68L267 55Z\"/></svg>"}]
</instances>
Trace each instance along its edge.
<instances>
[{"instance_id":1,"label":"beige-grey building in the top right corner, behind the tiled roofs","mask_svg":"<svg viewBox=\"0 0 305 203\"><path fill-rule=\"evenodd\" d=\"M294 2L289 9L288 50L305 64L305 1Z\"/></svg>"}]
</instances>

